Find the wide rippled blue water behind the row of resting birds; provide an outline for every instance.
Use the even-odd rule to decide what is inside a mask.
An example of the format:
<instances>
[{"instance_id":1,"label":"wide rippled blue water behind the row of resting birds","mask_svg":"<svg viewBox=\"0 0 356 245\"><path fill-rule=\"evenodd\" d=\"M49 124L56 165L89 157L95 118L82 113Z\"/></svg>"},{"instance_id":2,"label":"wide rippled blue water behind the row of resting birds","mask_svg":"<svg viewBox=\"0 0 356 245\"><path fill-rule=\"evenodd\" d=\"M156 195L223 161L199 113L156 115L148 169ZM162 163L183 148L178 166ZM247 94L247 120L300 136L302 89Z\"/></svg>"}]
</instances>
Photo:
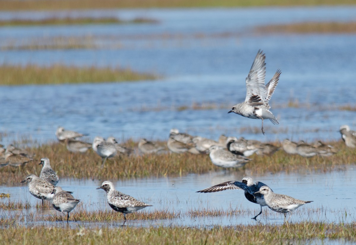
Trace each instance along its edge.
<instances>
[{"instance_id":1,"label":"wide rippled blue water behind the row of resting birds","mask_svg":"<svg viewBox=\"0 0 356 245\"><path fill-rule=\"evenodd\" d=\"M41 18L66 12L1 12L2 18ZM0 62L124 66L165 77L154 82L1 87L1 142L55 139L58 126L95 136L166 139L169 129L217 139L221 133L261 141L335 140L340 125L356 127L355 34L256 34L253 27L299 21L355 21L356 8L150 9L74 11L68 15L148 17L158 24L1 27L0 40L86 36L119 43L78 50L0 50ZM168 34L168 36L165 36ZM171 36L169 36L171 35ZM112 37L114 36L114 37ZM36 39L35 39L36 40ZM85 39L84 39L85 40ZM100 41L99 41L100 42ZM110 45L109 45L110 46ZM266 52L267 80L280 68L271 111L280 125L227 114L245 97L245 77L257 50ZM306 104L290 108L288 102ZM187 109L210 103L216 109ZM247 128L247 129L246 129ZM252 129L251 129L252 128ZM257 130L259 131L259 130Z\"/></svg>"}]
</instances>

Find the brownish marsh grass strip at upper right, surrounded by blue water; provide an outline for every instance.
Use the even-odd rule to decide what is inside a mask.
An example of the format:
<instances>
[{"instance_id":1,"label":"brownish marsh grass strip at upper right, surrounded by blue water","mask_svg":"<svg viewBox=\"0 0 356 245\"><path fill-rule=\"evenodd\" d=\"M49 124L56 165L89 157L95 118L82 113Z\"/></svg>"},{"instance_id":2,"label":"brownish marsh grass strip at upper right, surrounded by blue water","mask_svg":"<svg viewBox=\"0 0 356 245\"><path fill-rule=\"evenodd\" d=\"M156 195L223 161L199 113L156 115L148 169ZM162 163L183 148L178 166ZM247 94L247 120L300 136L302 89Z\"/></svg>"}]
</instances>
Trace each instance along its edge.
<instances>
[{"instance_id":1,"label":"brownish marsh grass strip at upper right, surrounded by blue water","mask_svg":"<svg viewBox=\"0 0 356 245\"><path fill-rule=\"evenodd\" d=\"M356 22L302 22L256 27L263 33L356 33Z\"/></svg>"}]
</instances>

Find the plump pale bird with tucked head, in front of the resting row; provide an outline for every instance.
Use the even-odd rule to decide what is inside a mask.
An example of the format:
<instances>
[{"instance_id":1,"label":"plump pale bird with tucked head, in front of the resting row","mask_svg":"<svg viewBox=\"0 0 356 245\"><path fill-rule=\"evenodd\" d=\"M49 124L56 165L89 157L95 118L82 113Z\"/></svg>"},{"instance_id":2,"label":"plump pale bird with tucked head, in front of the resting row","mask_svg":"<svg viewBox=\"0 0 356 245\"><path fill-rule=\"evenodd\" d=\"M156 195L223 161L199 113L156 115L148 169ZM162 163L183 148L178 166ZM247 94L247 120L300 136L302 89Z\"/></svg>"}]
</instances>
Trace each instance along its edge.
<instances>
[{"instance_id":1,"label":"plump pale bird with tucked head, in front of the resting row","mask_svg":"<svg viewBox=\"0 0 356 245\"><path fill-rule=\"evenodd\" d=\"M214 165L223 168L243 167L250 161L250 159L242 155L229 152L226 148L221 146L211 146L209 148L209 152L211 162Z\"/></svg>"}]
</instances>

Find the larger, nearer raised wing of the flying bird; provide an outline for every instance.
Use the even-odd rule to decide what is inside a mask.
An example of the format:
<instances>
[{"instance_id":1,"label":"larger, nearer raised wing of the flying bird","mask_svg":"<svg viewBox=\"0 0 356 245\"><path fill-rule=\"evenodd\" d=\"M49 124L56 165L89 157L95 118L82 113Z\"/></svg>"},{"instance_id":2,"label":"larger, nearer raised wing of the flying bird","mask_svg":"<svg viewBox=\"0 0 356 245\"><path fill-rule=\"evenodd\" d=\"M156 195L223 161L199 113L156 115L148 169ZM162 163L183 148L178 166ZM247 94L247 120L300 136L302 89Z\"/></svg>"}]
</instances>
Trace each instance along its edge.
<instances>
[{"instance_id":1,"label":"larger, nearer raised wing of the flying bird","mask_svg":"<svg viewBox=\"0 0 356 245\"><path fill-rule=\"evenodd\" d=\"M267 102L267 90L265 85L266 77L266 55L262 50L258 50L255 60L252 63L251 70L246 77L246 98L248 102L252 96L259 96L262 101ZM273 93L273 92L272 92Z\"/></svg>"}]
</instances>

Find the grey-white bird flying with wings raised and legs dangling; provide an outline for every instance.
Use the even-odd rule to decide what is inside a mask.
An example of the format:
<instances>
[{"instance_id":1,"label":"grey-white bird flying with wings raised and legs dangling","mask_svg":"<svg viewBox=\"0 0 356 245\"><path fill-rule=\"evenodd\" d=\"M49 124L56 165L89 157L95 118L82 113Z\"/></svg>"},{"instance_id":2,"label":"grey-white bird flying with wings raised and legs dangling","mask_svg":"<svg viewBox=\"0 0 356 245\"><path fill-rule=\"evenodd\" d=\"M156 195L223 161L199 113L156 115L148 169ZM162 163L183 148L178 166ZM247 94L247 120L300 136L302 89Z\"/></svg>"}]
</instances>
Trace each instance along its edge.
<instances>
[{"instance_id":1,"label":"grey-white bird flying with wings raised and legs dangling","mask_svg":"<svg viewBox=\"0 0 356 245\"><path fill-rule=\"evenodd\" d=\"M281 71L277 72L265 85L266 77L266 55L262 53L262 50L257 52L256 58L252 63L251 70L246 77L246 98L245 101L239 104L235 104L230 112L234 112L244 117L252 119L262 119L262 133L263 119L269 119L273 124L279 124L276 117L269 111L271 108L268 105L268 101L271 99L274 90L277 87L279 76Z\"/></svg>"}]
</instances>

